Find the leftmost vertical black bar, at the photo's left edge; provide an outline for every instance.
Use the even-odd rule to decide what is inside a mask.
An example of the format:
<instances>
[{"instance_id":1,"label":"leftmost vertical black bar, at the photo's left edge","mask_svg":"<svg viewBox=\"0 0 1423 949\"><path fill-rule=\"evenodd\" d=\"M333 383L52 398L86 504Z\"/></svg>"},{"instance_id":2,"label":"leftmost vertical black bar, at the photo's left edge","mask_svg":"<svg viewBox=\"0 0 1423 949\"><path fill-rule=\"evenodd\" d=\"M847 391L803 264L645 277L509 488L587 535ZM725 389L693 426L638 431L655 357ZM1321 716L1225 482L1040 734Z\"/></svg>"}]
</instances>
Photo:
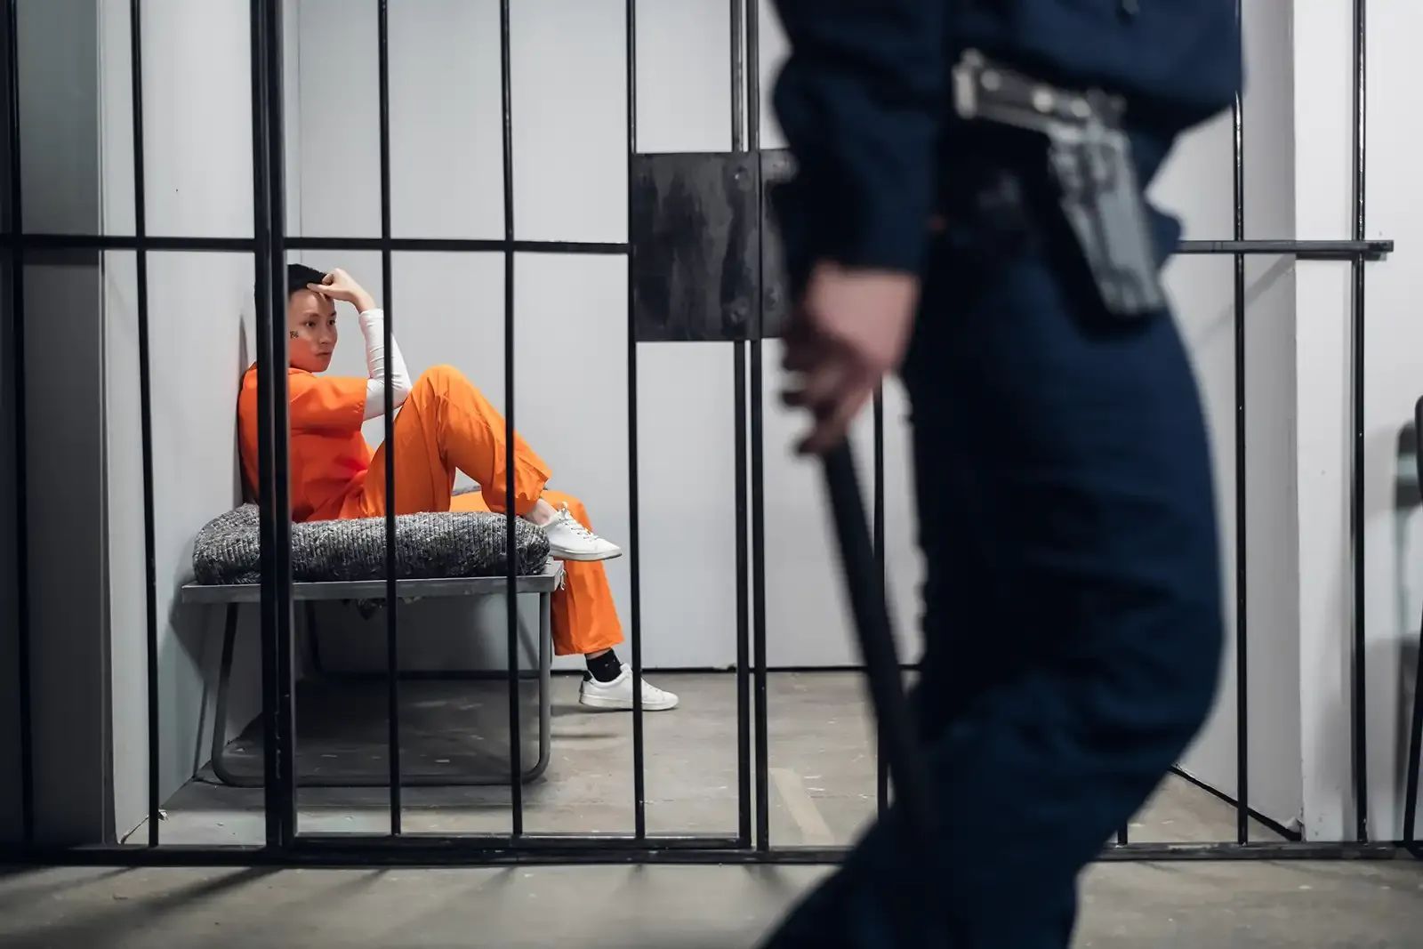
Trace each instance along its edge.
<instances>
[{"instance_id":1,"label":"leftmost vertical black bar, at the photo's left edge","mask_svg":"<svg viewBox=\"0 0 1423 949\"><path fill-rule=\"evenodd\" d=\"M10 120L10 391L14 411L14 616L17 699L20 703L20 825L24 842L34 842L34 734L30 694L30 492L24 383L24 233L20 161L20 3L6 10L6 68Z\"/></svg>"}]
</instances>

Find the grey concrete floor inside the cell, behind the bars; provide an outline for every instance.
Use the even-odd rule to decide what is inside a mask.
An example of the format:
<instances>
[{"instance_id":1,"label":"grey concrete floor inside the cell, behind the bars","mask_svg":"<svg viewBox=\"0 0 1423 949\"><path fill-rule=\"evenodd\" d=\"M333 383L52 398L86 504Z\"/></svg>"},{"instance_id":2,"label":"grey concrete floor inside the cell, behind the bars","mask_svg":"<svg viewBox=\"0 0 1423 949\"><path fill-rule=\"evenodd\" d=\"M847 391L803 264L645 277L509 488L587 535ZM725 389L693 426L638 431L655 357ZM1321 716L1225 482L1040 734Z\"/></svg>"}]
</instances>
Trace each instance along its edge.
<instances>
[{"instance_id":1,"label":"grey concrete floor inside the cell, behind the bars","mask_svg":"<svg viewBox=\"0 0 1423 949\"><path fill-rule=\"evenodd\" d=\"M650 834L731 837L737 828L736 679L660 674L682 707L645 720ZM307 767L349 771L384 761L383 686L317 689L299 700L299 753ZM524 788L531 834L630 834L633 828L632 717L586 711L578 680L554 680L552 761ZM770 821L776 845L840 845L875 810L875 760L862 684L852 673L777 673L768 682ZM403 686L403 756L417 770L482 767L505 774L508 699L501 683ZM532 720L529 710L522 713ZM233 743L260 761L253 736ZM488 746L488 747L485 747ZM491 751L492 748L492 751ZM527 750L525 756L532 751ZM525 757L531 760L531 757ZM444 763L444 764L437 764ZM384 788L299 788L299 828L310 834L384 834ZM262 791L199 775L166 804L164 844L260 844ZM1232 808L1207 791L1168 778L1131 825L1134 841L1234 839ZM407 834L507 834L507 787L404 790ZM1276 839L1257 827L1254 839ZM139 827L131 841L147 841Z\"/></svg>"}]
</instances>

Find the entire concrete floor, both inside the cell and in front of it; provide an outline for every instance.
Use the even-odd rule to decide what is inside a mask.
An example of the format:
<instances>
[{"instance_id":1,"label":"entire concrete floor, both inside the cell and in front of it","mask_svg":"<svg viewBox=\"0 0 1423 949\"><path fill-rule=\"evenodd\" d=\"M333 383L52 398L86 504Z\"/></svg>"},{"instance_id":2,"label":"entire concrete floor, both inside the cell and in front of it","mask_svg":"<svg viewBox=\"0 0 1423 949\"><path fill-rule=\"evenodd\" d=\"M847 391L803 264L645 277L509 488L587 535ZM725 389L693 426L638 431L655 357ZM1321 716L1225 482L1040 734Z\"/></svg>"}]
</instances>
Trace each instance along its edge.
<instances>
[{"instance_id":1,"label":"entire concrete floor, both inside the cell and in front of it","mask_svg":"<svg viewBox=\"0 0 1423 949\"><path fill-rule=\"evenodd\" d=\"M737 818L736 680L704 674L657 680L682 694L683 707L646 719L649 829L729 835ZM572 679L555 682L554 760L548 774L525 788L527 828L628 832L630 717L581 710L576 687ZM344 700L323 707L333 694L317 690L303 697L300 734L310 746L303 756L312 761L332 761L323 757L330 754L379 756L377 746L349 738L379 736L380 723L361 721L361 706ZM435 756L462 740L443 730L467 728L471 710L498 717L498 709L507 707L502 687L492 684L462 683L448 691L420 683L403 694L406 720L420 723L413 726L407 751L421 758L421 767L438 764ZM874 756L858 677L773 676L768 710L773 842L850 841L874 811ZM342 720L346 726L334 728ZM497 743L498 734L465 737ZM332 736L346 736L346 744ZM480 754L460 760L470 764ZM485 756L484 763L497 757ZM504 832L508 801L508 790L498 787L407 788L406 831ZM384 808L381 788L300 791L306 832L380 834L387 827ZM258 790L199 778L174 795L166 811L165 844L262 838ZM1133 822L1131 835L1137 841L1229 839L1234 811L1207 791L1168 778ZM135 839L144 837L139 832ZM1257 839L1269 837L1257 828ZM824 872L805 866L0 871L0 945L753 946ZM1420 933L1423 865L1412 861L1099 864L1083 884L1076 945L1403 948L1423 946Z\"/></svg>"}]
</instances>

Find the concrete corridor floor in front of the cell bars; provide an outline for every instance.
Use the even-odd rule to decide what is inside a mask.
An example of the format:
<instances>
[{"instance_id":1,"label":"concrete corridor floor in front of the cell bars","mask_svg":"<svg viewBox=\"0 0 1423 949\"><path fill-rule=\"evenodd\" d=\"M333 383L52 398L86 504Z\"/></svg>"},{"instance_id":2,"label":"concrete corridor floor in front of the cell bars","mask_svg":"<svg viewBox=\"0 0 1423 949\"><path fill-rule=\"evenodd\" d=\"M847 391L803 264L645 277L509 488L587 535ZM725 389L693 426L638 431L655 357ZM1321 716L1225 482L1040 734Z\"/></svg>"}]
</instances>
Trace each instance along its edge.
<instances>
[{"instance_id":1,"label":"concrete corridor floor in front of the cell bars","mask_svg":"<svg viewBox=\"0 0 1423 949\"><path fill-rule=\"evenodd\" d=\"M0 945L92 949L753 946L824 871L77 871L0 876ZM1423 872L1389 864L1104 864L1076 946L1419 946Z\"/></svg>"}]
</instances>

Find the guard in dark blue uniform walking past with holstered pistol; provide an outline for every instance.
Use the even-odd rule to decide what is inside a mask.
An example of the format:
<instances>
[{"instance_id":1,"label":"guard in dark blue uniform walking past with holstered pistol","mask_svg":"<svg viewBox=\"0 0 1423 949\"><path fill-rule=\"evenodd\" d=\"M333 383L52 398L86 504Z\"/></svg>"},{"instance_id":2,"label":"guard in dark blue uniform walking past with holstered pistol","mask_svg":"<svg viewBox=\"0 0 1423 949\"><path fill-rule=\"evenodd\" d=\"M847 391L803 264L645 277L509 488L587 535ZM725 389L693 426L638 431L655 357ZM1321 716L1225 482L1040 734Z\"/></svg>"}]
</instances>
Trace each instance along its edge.
<instances>
[{"instance_id":1,"label":"guard in dark blue uniform walking past with holstered pistol","mask_svg":"<svg viewBox=\"0 0 1423 949\"><path fill-rule=\"evenodd\" d=\"M1143 188L1239 87L1235 0L778 7L787 400L824 451L882 373L908 386L938 820L891 808L770 945L1062 948L1215 693L1207 435L1158 283L1180 229Z\"/></svg>"}]
</instances>

